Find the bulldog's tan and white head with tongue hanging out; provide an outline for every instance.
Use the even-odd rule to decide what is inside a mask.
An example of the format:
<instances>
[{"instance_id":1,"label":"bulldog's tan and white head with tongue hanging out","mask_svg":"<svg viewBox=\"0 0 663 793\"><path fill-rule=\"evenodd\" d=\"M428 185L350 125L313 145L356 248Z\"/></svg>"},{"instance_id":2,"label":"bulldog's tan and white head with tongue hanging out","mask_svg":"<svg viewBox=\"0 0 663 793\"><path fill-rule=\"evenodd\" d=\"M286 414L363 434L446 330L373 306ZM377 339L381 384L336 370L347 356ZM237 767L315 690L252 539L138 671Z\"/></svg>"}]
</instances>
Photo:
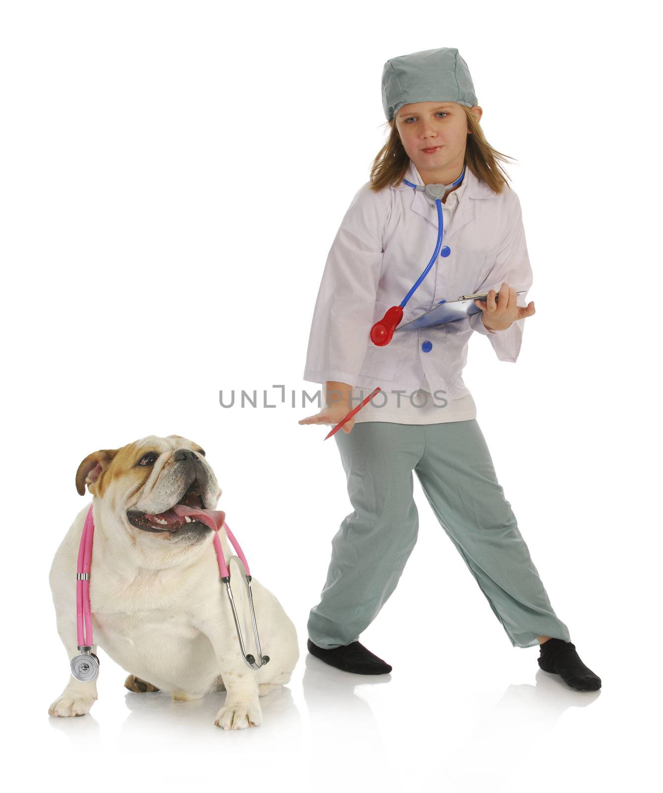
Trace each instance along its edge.
<instances>
[{"instance_id":1,"label":"bulldog's tan and white head with tongue hanging out","mask_svg":"<svg viewBox=\"0 0 663 793\"><path fill-rule=\"evenodd\" d=\"M86 485L130 533L182 545L197 545L212 530L190 516L192 510L182 510L190 512L185 516L174 508L213 510L221 495L205 451L181 435L150 435L88 454L76 473L81 496Z\"/></svg>"}]
</instances>

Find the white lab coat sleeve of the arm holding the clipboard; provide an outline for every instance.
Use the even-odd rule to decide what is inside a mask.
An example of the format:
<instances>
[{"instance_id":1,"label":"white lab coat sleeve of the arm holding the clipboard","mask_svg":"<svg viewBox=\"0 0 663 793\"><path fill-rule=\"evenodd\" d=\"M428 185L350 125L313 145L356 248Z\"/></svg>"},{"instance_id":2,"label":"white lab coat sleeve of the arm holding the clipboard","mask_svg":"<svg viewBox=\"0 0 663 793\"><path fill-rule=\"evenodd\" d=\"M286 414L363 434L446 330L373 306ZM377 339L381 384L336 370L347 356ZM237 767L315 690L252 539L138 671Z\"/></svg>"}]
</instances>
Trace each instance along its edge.
<instances>
[{"instance_id":1,"label":"white lab coat sleeve of the arm holding the clipboard","mask_svg":"<svg viewBox=\"0 0 663 793\"><path fill-rule=\"evenodd\" d=\"M520 201L515 193L512 194L512 197L511 222L509 223L507 236L500 248L500 252L496 256L495 265L476 291L489 292L490 289L497 291L503 282L507 282L509 286L513 286L518 292L521 290L525 291L525 294L520 295L517 301L517 305L524 307L527 305L527 292L532 285L532 271L530 259L527 255L527 242L525 240ZM481 321L482 313L479 312L470 316L470 327L477 333L489 337L492 349L500 361L515 363L523 343L523 328L527 320L515 320L504 331L491 331Z\"/></svg>"}]
</instances>

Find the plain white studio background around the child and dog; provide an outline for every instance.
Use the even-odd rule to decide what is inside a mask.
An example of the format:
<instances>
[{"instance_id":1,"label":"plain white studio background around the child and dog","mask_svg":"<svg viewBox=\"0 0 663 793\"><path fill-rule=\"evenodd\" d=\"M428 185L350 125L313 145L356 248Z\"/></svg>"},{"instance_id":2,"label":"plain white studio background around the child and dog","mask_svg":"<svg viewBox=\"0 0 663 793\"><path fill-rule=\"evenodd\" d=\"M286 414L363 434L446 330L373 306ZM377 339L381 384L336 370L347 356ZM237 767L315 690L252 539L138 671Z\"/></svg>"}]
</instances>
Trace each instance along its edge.
<instances>
[{"instance_id":1,"label":"plain white studio background around the child and dog","mask_svg":"<svg viewBox=\"0 0 663 793\"><path fill-rule=\"evenodd\" d=\"M220 389L270 404L274 384L316 389L301 380L313 304L385 140L382 65L442 46L469 65L489 143L518 161L535 275L517 364L474 335L465 380L596 694L511 646L418 483L419 543L362 634L391 676L309 657L351 511L338 450L289 398L219 404ZM651 789L658 52L641 2L3 4L2 696L22 787ZM222 694L129 693L103 650L90 714L47 714L69 673L48 570L86 503L75 471L152 433L205 446L251 569L297 626L293 680L257 729L214 727Z\"/></svg>"}]
</instances>

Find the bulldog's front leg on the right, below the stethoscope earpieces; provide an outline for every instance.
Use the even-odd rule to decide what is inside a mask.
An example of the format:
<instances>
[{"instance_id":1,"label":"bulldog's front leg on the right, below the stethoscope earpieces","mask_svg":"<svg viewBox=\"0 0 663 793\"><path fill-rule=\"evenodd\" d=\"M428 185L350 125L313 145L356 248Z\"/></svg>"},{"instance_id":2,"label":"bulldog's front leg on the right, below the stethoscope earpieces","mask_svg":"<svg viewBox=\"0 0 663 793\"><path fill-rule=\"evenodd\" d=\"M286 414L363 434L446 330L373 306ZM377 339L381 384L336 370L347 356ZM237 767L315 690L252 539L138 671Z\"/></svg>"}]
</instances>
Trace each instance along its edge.
<instances>
[{"instance_id":1,"label":"bulldog's front leg on the right, below the stethoscope earpieces","mask_svg":"<svg viewBox=\"0 0 663 793\"><path fill-rule=\"evenodd\" d=\"M240 641L235 627L214 620L199 626L209 638L219 663L226 694L224 707L217 713L214 723L224 730L243 730L257 727L263 722L259 703L258 681L255 670L246 665L240 651ZM232 630L232 634L230 633Z\"/></svg>"}]
</instances>

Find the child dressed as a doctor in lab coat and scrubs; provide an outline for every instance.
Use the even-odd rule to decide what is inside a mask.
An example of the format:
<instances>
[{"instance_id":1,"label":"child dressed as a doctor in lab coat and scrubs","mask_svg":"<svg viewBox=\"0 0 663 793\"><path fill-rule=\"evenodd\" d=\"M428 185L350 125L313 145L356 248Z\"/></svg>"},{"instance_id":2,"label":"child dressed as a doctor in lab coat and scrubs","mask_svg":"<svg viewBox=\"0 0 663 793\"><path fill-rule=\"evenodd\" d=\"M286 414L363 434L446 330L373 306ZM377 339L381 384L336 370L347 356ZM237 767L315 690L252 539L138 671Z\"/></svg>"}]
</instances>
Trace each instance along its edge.
<instances>
[{"instance_id":1,"label":"child dressed as a doctor in lab coat and scrubs","mask_svg":"<svg viewBox=\"0 0 663 793\"><path fill-rule=\"evenodd\" d=\"M332 540L327 581L309 615L309 652L347 672L391 671L358 638L415 545L415 471L512 645L539 644L542 669L596 691L600 678L550 605L461 377L473 331L488 335L501 361L515 362L525 318L535 313L516 295L527 293L532 275L519 199L499 172L504 155L485 140L457 49L387 61L382 102L389 140L329 251L304 374L325 386L326 406L301 424L339 423L376 385L383 391L334 435L354 511ZM439 186L442 205L416 185ZM410 290L400 324L442 300L489 295L468 319L395 333L377 347L370 328L409 294L437 251L438 206L443 247Z\"/></svg>"}]
</instances>

